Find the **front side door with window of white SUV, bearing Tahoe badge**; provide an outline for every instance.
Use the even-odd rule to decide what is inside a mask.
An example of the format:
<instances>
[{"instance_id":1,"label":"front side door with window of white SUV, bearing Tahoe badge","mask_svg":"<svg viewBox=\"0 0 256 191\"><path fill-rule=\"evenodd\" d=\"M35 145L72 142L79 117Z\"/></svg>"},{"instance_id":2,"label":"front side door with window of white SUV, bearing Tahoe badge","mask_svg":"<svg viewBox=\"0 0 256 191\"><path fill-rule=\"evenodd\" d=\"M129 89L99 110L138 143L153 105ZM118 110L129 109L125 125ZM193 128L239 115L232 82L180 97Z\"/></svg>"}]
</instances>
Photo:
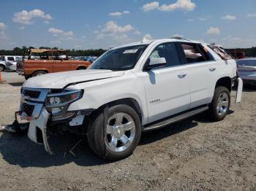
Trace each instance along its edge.
<instances>
[{"instance_id":1,"label":"front side door with window of white SUV, bearing Tahoe badge","mask_svg":"<svg viewBox=\"0 0 256 191\"><path fill-rule=\"evenodd\" d=\"M181 66L176 44L159 44L149 58L165 58L167 64L140 74L146 92L148 122L189 109L189 81L184 66Z\"/></svg>"}]
</instances>

